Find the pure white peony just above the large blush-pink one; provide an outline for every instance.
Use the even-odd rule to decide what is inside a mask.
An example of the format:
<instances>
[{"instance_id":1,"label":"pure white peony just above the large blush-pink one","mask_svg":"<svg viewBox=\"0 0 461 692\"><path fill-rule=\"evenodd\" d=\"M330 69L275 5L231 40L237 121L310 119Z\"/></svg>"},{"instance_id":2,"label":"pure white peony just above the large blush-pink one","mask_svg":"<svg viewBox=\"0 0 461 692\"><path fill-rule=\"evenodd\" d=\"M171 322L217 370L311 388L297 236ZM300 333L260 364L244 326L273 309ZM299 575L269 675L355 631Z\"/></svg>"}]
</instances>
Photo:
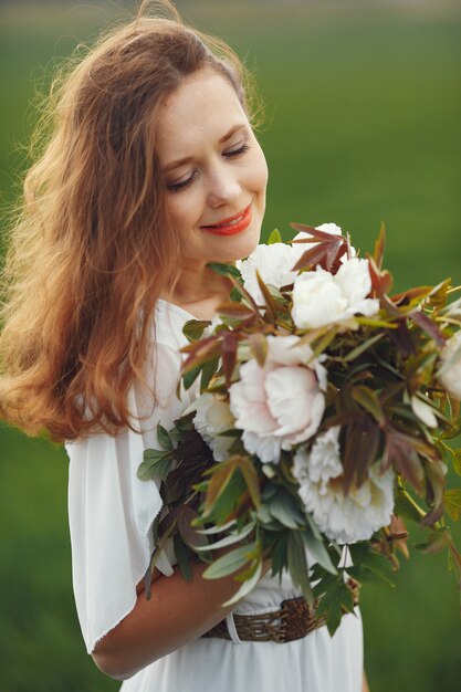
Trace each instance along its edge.
<instances>
[{"instance_id":1,"label":"pure white peony just above the large blush-pink one","mask_svg":"<svg viewBox=\"0 0 461 692\"><path fill-rule=\"evenodd\" d=\"M356 314L375 315L379 301L367 298L371 290L368 260L353 258L333 275L321 266L294 282L293 322L300 329L344 322Z\"/></svg>"}]
</instances>

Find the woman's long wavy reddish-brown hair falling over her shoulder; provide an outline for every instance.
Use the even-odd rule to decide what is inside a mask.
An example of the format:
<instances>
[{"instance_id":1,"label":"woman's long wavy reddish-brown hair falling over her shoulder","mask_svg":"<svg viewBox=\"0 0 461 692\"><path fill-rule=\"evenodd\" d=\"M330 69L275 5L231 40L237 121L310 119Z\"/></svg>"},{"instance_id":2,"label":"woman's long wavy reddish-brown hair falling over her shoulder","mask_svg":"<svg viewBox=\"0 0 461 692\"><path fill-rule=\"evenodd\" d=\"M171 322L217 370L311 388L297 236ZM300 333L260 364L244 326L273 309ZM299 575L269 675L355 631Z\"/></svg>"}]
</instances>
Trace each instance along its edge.
<instances>
[{"instance_id":1,"label":"woman's long wavy reddish-brown hair falling over her shoulder","mask_svg":"<svg viewBox=\"0 0 461 692\"><path fill-rule=\"evenodd\" d=\"M156 113L206 66L251 111L249 73L233 51L185 25L168 1L154 15L150 6L54 81L40 126L49 134L10 229L0 412L29 434L135 429L127 394L145 382L155 304L178 266Z\"/></svg>"}]
</instances>

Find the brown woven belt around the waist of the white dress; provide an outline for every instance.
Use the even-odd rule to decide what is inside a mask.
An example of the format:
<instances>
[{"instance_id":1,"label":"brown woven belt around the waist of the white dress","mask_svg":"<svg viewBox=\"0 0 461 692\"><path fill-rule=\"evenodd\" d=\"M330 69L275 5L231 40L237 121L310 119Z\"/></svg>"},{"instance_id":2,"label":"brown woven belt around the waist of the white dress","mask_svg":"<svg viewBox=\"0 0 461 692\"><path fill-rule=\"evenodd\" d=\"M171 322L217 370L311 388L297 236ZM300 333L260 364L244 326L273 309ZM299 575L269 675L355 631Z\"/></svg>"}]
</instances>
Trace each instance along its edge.
<instances>
[{"instance_id":1,"label":"brown woven belt around the waist of the white dress","mask_svg":"<svg viewBox=\"0 0 461 692\"><path fill-rule=\"evenodd\" d=\"M348 579L347 586L354 597L354 606L358 605L360 585L355 579ZM315 617L319 599L314 600L311 608L303 596L289 598L282 601L279 610L256 615L233 615L235 630L241 641L276 641L286 643L302 639L310 632L325 625L325 617ZM346 612L345 610L343 612ZM231 639L226 620L221 620L203 637Z\"/></svg>"}]
</instances>

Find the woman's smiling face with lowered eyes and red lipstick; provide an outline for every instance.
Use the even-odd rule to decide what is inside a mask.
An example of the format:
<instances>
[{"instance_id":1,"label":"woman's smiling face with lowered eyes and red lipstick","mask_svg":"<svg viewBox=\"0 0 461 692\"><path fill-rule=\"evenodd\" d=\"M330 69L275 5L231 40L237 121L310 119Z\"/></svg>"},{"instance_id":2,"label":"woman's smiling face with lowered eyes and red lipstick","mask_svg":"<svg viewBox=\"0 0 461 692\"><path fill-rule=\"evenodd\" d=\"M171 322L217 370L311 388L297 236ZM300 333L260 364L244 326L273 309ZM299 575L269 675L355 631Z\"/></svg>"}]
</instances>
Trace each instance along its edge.
<instances>
[{"instance_id":1,"label":"woman's smiling face with lowered eyes and red lipstick","mask_svg":"<svg viewBox=\"0 0 461 692\"><path fill-rule=\"evenodd\" d=\"M185 263L234 262L260 239L268 167L231 84L212 69L161 106L156 148Z\"/></svg>"}]
</instances>

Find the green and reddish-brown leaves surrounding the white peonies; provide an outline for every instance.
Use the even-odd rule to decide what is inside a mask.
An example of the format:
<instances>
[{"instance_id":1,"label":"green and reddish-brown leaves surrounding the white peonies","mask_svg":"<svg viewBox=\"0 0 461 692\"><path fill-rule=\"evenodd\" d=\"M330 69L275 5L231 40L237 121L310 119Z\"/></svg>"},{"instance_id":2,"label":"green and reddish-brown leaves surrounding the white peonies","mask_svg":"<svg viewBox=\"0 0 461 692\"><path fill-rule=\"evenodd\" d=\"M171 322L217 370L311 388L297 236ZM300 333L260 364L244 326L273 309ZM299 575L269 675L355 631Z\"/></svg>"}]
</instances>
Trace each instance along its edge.
<instances>
[{"instance_id":1,"label":"green and reddish-brown leaves surrounding the white peonies","mask_svg":"<svg viewBox=\"0 0 461 692\"><path fill-rule=\"evenodd\" d=\"M297 275L318 268L336 274L354 254L348 238L294 227L304 234L298 242L312 244L296 262ZM272 240L280 241L276 234ZM377 302L376 314L356 314L317 328L300 328L293 322L293 284L280 289L265 284L256 271L263 296L258 304L235 268L213 268L228 275L239 301L219 307L221 322L213 329L203 322L186 325L190 342L184 348L186 388L201 374L201 395L232 403L232 388L242 380L244 364L255 360L263 369L271 357L269 340L295 335L311 354L300 367L317 364L326 370L325 410L314 434L289 448L282 445L271 463L249 451L244 424L235 421L216 436L229 438L229 452L213 463L213 441L207 440L207 445L195 430L200 397L169 433L159 428L163 449L146 450L139 469L144 479L160 475L168 510L156 526L161 537L151 566L174 534L185 576L188 560L197 556L210 563L208 578L235 575L242 584L229 601L233 604L253 588L263 560L270 558L273 575L289 570L310 602L322 596L317 612L326 617L333 635L342 612L353 608L345 576L391 584L389 570L399 566L397 552L408 556L405 521L410 521L426 530L427 537L418 545L422 553L448 548L461 584L461 556L447 525L447 516L454 521L460 516L461 491L446 489L443 461L451 459L459 472L460 450L452 450L447 440L460 431L460 408L439 379L444 345L460 327L448 303L453 290L444 281L390 294L392 279L383 269L384 244L381 229L368 256L368 298ZM232 406L230 410L235 412ZM394 515L366 541L345 544L332 538L300 497L296 452L312 452L318 436L334 428L340 429L338 481L345 496L359 491L374 469L381 475L389 469L395 473ZM185 479L181 489L179 478ZM213 551L221 549L224 555L212 559Z\"/></svg>"}]
</instances>

